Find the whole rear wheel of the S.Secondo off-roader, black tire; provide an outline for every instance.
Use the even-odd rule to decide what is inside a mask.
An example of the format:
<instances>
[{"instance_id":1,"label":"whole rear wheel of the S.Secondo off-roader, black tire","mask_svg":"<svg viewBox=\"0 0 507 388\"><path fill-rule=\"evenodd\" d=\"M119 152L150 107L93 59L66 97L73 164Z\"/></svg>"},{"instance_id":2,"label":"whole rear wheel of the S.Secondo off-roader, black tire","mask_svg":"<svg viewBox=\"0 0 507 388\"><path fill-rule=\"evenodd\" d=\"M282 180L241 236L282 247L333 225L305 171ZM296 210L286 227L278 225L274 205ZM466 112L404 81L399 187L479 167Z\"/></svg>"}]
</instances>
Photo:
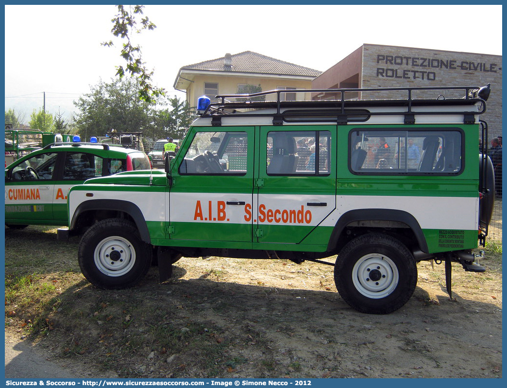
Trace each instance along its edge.
<instances>
[{"instance_id":1,"label":"whole rear wheel of the S.Secondo off-roader, black tire","mask_svg":"<svg viewBox=\"0 0 507 388\"><path fill-rule=\"evenodd\" d=\"M347 243L336 259L338 293L354 309L388 314L412 297L417 267L410 250L382 234L359 236Z\"/></svg>"}]
</instances>

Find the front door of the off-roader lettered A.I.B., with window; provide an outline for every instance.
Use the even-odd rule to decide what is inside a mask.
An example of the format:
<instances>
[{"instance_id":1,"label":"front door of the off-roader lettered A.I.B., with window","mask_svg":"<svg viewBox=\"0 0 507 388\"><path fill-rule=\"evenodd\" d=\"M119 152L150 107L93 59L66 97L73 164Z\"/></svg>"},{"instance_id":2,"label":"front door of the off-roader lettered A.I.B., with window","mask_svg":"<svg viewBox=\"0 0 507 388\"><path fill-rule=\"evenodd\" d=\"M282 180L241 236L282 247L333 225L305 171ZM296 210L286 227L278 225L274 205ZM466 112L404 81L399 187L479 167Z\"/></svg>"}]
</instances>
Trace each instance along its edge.
<instances>
[{"instance_id":1,"label":"front door of the off-roader lettered A.I.B., with window","mask_svg":"<svg viewBox=\"0 0 507 388\"><path fill-rule=\"evenodd\" d=\"M186 151L171 160L166 233L190 246L192 241L209 241L209 247L251 242L254 127L191 131L182 144Z\"/></svg>"}]
</instances>

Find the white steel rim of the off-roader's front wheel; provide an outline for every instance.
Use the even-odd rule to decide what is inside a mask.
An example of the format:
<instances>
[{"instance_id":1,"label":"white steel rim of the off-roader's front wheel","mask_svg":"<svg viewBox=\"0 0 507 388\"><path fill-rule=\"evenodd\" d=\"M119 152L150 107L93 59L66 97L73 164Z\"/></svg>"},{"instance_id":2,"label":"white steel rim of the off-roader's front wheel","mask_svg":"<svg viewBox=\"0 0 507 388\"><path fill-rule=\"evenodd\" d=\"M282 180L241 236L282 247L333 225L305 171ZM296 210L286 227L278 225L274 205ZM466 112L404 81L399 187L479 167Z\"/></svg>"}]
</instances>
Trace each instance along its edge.
<instances>
[{"instance_id":1,"label":"white steel rim of the off-roader's front wheel","mask_svg":"<svg viewBox=\"0 0 507 388\"><path fill-rule=\"evenodd\" d=\"M110 236L97 244L93 253L98 270L107 276L122 276L135 264L135 250L130 241Z\"/></svg>"}]
</instances>

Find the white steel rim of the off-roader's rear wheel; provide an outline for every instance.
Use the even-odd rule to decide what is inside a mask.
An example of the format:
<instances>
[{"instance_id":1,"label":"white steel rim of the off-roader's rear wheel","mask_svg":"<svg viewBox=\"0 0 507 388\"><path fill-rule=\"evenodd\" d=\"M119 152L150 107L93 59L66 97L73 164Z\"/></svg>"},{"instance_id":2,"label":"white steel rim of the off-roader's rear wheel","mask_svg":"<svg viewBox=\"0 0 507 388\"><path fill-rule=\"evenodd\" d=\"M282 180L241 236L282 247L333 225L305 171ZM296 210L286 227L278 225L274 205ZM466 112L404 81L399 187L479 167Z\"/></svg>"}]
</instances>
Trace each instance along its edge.
<instances>
[{"instance_id":1,"label":"white steel rim of the off-roader's rear wheel","mask_svg":"<svg viewBox=\"0 0 507 388\"><path fill-rule=\"evenodd\" d=\"M390 295L399 281L393 261L380 253L361 257L352 270L352 282L361 295L381 299Z\"/></svg>"}]
</instances>

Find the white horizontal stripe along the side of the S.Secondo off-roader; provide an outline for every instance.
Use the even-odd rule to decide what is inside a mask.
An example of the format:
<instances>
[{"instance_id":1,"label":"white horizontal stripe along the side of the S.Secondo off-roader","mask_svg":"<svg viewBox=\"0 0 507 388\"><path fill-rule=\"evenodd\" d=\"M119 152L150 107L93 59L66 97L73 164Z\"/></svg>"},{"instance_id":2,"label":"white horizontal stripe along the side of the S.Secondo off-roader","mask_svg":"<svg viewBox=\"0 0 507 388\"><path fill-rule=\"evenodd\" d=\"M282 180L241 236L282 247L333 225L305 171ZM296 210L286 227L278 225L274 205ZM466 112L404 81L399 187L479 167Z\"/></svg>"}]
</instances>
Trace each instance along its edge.
<instances>
[{"instance_id":1,"label":"white horizontal stripe along the side of the S.Secondo off-roader","mask_svg":"<svg viewBox=\"0 0 507 388\"><path fill-rule=\"evenodd\" d=\"M87 200L116 198L136 204L147 221L167 221L164 192L74 191L70 214ZM361 209L402 210L414 216L421 229L477 230L479 199L472 197L392 197L263 194L252 204L248 193L173 193L171 222L259 223L334 227L346 212ZM335 208L336 201L336 208ZM229 202L230 204L227 204ZM74 205L76 204L76 205ZM321 206L308 206L321 204ZM325 206L323 205L325 204ZM417 204L415 206L414 204ZM474 209L474 215L464 209ZM268 213L268 211L270 211ZM300 214L301 213L301 214ZM445 217L445 214L452 216ZM296 218L295 218L296 217ZM323 221L322 221L323 220ZM322 222L321 222L322 221Z\"/></svg>"}]
</instances>

